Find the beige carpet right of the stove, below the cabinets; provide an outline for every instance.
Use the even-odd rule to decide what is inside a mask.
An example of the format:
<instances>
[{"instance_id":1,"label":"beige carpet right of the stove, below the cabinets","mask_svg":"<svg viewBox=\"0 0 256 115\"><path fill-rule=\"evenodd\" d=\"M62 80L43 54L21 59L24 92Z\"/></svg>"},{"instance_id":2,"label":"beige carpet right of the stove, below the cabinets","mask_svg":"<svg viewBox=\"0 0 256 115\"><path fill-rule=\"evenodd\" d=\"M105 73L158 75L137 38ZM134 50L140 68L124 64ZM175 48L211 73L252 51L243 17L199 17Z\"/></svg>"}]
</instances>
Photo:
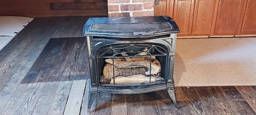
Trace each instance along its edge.
<instances>
[{"instance_id":1,"label":"beige carpet right of the stove, below the cabinets","mask_svg":"<svg viewBox=\"0 0 256 115\"><path fill-rule=\"evenodd\" d=\"M256 38L178 39L174 83L256 85Z\"/></svg>"}]
</instances>

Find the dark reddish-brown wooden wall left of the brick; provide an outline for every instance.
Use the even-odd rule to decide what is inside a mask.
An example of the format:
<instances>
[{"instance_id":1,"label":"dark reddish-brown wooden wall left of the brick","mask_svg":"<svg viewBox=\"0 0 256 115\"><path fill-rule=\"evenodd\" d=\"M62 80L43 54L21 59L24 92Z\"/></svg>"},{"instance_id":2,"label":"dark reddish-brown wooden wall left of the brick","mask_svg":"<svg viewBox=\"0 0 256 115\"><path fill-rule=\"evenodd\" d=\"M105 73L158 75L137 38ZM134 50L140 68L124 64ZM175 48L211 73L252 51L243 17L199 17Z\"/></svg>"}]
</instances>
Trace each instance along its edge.
<instances>
[{"instance_id":1,"label":"dark reddish-brown wooden wall left of the brick","mask_svg":"<svg viewBox=\"0 0 256 115\"><path fill-rule=\"evenodd\" d=\"M0 16L108 16L107 0L1 0Z\"/></svg>"}]
</instances>

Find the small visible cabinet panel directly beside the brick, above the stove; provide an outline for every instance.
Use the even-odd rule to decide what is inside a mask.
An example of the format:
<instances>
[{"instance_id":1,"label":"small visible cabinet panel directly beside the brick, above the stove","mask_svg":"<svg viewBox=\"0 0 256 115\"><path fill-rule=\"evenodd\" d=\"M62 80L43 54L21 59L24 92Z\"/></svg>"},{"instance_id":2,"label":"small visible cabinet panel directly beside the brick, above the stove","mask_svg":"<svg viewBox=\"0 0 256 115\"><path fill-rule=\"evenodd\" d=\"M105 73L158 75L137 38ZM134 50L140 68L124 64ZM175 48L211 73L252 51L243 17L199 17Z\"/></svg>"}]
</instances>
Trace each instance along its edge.
<instances>
[{"instance_id":1,"label":"small visible cabinet panel directly beside the brick, above the stove","mask_svg":"<svg viewBox=\"0 0 256 115\"><path fill-rule=\"evenodd\" d=\"M167 1L160 1L159 5L154 6L154 16L165 16Z\"/></svg>"}]
</instances>

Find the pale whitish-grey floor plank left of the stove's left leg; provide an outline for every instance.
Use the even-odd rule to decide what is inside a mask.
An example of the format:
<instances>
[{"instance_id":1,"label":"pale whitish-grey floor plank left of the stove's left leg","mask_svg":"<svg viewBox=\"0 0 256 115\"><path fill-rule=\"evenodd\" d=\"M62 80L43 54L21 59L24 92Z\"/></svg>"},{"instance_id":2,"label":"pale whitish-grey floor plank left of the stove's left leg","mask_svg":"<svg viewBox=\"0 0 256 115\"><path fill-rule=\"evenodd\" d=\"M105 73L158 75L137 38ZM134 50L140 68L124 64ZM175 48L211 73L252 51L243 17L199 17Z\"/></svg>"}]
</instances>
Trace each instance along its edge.
<instances>
[{"instance_id":1,"label":"pale whitish-grey floor plank left of the stove's left leg","mask_svg":"<svg viewBox=\"0 0 256 115\"><path fill-rule=\"evenodd\" d=\"M85 85L86 79L73 81L63 115L80 115Z\"/></svg>"}]
</instances>

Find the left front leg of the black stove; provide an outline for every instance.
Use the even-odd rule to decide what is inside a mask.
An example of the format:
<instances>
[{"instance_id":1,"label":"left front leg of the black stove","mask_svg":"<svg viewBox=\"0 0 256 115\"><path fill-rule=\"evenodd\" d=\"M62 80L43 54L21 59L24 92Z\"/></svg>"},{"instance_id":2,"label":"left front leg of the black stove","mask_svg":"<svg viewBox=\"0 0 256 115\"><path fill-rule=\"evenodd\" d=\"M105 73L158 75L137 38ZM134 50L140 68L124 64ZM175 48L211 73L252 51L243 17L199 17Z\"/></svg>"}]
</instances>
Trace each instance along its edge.
<instances>
[{"instance_id":1,"label":"left front leg of the black stove","mask_svg":"<svg viewBox=\"0 0 256 115\"><path fill-rule=\"evenodd\" d=\"M89 93L87 112L95 111L97 93Z\"/></svg>"}]
</instances>

